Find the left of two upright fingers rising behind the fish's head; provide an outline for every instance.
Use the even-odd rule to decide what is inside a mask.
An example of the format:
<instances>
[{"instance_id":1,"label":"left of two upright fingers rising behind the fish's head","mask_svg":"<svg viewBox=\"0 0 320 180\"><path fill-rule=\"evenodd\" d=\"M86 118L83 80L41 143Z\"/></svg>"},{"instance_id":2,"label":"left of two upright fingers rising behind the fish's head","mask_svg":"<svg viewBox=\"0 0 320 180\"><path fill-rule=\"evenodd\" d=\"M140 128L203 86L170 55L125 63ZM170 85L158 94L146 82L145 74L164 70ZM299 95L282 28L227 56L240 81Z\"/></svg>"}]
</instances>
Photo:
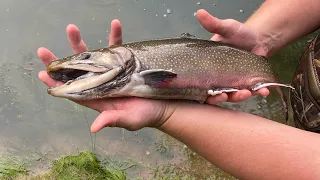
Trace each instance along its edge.
<instances>
[{"instance_id":1,"label":"left of two upright fingers rising behind the fish's head","mask_svg":"<svg viewBox=\"0 0 320 180\"><path fill-rule=\"evenodd\" d=\"M87 45L81 38L80 31L77 26L74 24L69 24L66 28L66 31L73 53L78 54L88 50Z\"/></svg>"}]
</instances>

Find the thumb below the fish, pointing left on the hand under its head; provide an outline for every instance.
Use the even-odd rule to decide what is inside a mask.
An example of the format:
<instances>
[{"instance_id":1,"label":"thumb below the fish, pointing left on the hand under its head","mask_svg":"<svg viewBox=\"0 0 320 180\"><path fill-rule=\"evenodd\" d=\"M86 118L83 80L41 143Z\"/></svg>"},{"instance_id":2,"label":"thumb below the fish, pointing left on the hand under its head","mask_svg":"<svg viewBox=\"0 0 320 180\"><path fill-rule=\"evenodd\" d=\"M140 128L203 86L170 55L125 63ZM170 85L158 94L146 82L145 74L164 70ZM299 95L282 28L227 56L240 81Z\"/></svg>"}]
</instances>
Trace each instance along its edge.
<instances>
[{"instance_id":1,"label":"thumb below the fish, pointing left on the hand under its head","mask_svg":"<svg viewBox=\"0 0 320 180\"><path fill-rule=\"evenodd\" d=\"M135 116L124 110L103 111L91 125L91 132L98 132L104 127L122 127L128 130L140 129Z\"/></svg>"}]
</instances>

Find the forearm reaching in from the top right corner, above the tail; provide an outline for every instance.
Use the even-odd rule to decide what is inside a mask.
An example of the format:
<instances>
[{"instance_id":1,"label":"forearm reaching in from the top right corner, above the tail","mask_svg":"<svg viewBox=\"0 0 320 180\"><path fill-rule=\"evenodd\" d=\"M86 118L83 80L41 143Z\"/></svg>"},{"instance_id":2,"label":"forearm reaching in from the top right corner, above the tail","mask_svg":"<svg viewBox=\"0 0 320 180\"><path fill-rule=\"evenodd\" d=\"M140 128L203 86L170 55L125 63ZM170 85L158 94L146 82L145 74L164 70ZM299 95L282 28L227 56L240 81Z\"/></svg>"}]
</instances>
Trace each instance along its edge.
<instances>
[{"instance_id":1,"label":"forearm reaching in from the top right corner, above the tail","mask_svg":"<svg viewBox=\"0 0 320 180\"><path fill-rule=\"evenodd\" d=\"M266 0L245 24L262 35L270 56L320 27L320 1Z\"/></svg>"}]
</instances>

